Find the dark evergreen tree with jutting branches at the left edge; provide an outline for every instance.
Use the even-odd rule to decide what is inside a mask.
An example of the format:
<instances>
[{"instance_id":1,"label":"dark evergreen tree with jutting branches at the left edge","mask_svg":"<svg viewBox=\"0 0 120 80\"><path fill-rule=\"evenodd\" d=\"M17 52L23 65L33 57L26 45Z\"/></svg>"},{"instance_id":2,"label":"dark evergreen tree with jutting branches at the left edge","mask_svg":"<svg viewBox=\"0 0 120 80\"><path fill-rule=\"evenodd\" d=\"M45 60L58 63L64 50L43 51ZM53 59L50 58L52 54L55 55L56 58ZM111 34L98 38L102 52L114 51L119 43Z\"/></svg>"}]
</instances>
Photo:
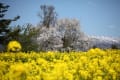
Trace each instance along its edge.
<instances>
[{"instance_id":1,"label":"dark evergreen tree with jutting branches at the left edge","mask_svg":"<svg viewBox=\"0 0 120 80\"><path fill-rule=\"evenodd\" d=\"M16 16L14 19L4 19L4 16L6 15L5 13L8 11L9 7L9 5L0 3L0 45L4 46L6 46L13 36L19 33L19 30L11 31L9 25L12 21L18 20L20 16ZM13 32L14 35L12 35Z\"/></svg>"}]
</instances>

